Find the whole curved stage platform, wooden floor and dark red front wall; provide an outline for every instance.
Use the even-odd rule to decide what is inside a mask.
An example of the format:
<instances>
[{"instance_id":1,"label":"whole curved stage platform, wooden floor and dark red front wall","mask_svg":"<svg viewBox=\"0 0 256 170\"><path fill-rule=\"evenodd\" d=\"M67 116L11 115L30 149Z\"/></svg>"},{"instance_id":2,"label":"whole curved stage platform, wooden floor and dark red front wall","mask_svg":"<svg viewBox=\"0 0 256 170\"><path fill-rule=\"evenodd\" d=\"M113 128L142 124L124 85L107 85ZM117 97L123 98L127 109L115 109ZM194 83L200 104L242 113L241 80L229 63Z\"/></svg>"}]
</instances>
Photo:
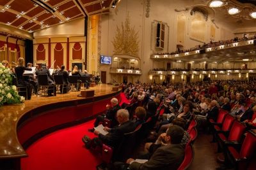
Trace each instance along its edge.
<instances>
[{"instance_id":1,"label":"whole curved stage platform, wooden floor and dark red front wall","mask_svg":"<svg viewBox=\"0 0 256 170\"><path fill-rule=\"evenodd\" d=\"M52 97L34 95L22 104L0 107L0 160L26 157L24 148L36 139L104 112L112 97L120 99L120 90L113 92L112 87L90 87L88 90L95 90L94 97L77 97L80 91L70 91Z\"/></svg>"}]
</instances>

